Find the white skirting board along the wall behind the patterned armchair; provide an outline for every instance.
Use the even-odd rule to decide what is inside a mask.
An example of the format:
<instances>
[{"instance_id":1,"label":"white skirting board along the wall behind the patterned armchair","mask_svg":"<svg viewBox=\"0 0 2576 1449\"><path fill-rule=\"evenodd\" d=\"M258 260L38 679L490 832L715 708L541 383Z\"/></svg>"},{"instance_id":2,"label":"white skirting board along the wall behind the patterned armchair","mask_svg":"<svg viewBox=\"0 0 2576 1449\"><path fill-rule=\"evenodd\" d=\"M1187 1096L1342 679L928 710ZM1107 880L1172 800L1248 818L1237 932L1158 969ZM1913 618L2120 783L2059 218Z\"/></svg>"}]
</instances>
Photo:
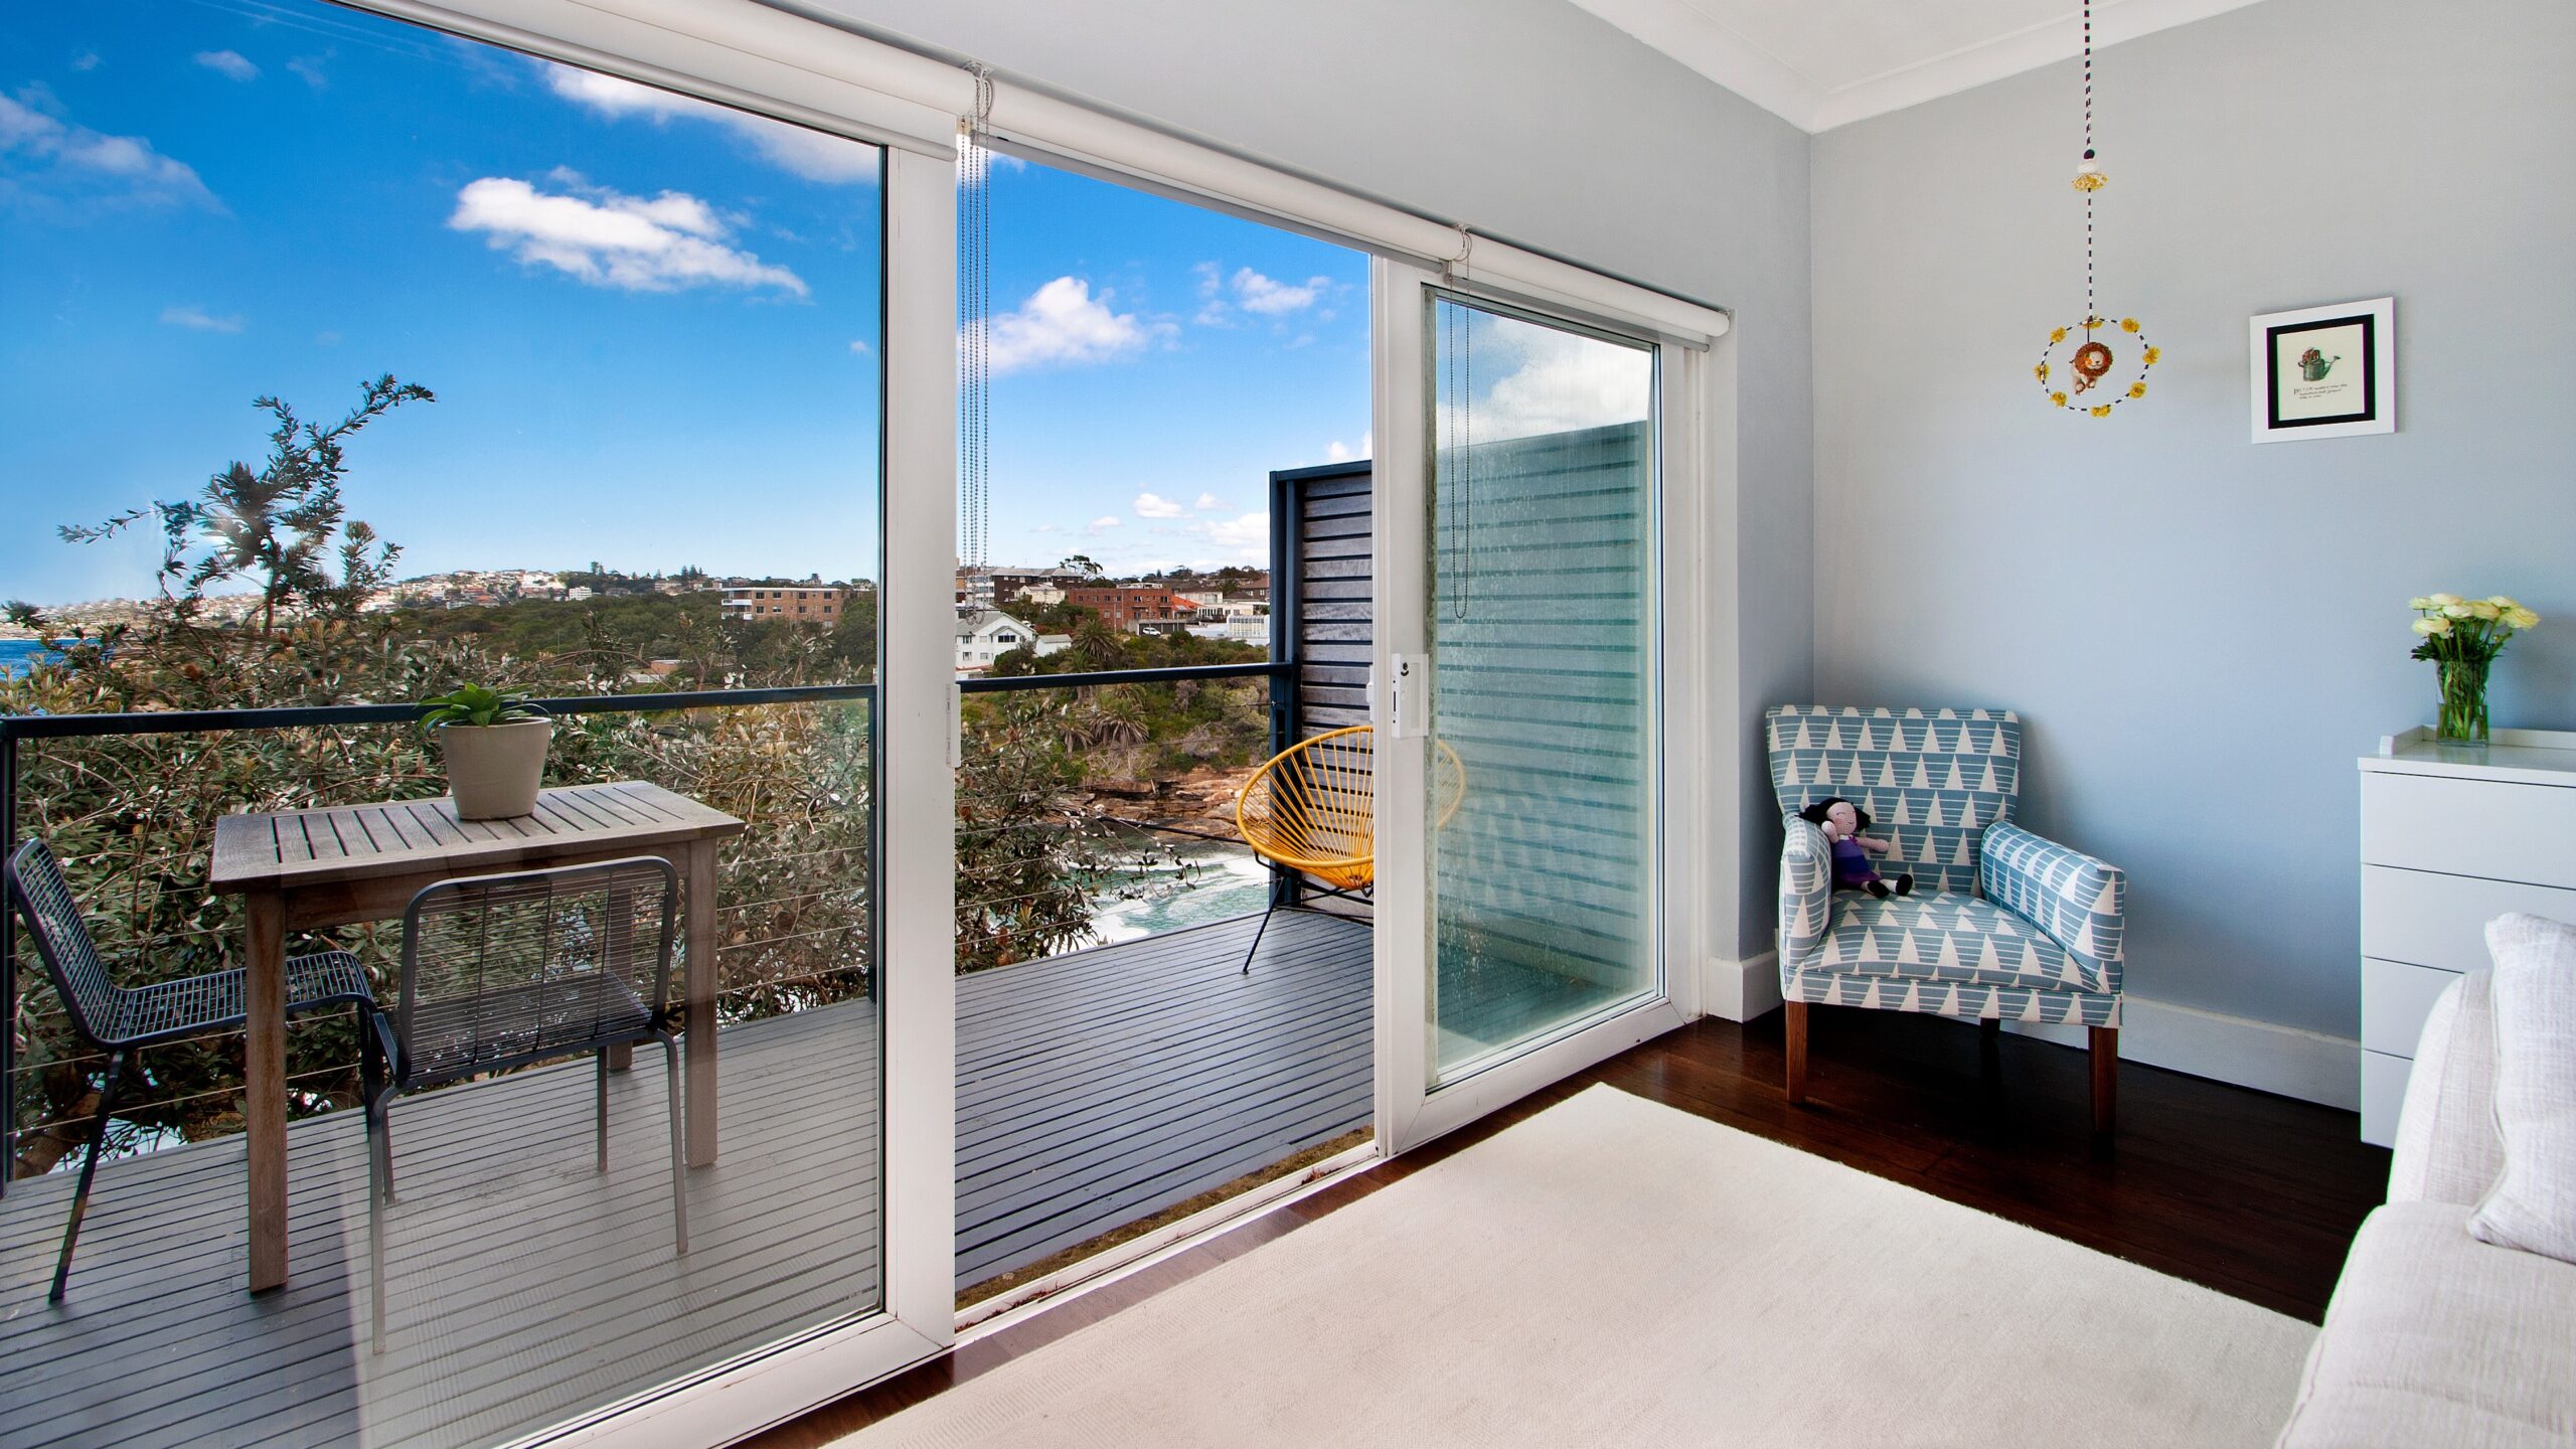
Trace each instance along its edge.
<instances>
[{"instance_id":1,"label":"white skirting board along the wall behind the patterned armchair","mask_svg":"<svg viewBox=\"0 0 2576 1449\"><path fill-rule=\"evenodd\" d=\"M1710 959L1700 975L1700 1006L1726 1021L1752 1021L1772 1011L1780 1006L1780 969L1772 962L1772 951L1741 962ZM2081 1026L2022 1021L2004 1026L2058 1047L2084 1047ZM2120 1060L2344 1111L2362 1106L2360 1042L2246 1016L2130 995L2120 1003Z\"/></svg>"}]
</instances>

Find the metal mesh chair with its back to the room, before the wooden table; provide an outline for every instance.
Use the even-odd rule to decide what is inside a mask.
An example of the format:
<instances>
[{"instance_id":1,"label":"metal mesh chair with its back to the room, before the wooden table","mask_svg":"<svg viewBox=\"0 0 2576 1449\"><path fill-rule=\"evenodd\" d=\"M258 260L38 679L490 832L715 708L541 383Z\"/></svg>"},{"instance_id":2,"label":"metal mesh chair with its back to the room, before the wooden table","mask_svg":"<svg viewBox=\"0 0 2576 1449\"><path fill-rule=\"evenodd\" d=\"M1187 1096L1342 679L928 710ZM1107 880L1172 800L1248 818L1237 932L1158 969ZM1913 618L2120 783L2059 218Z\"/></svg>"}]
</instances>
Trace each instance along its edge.
<instances>
[{"instance_id":1,"label":"metal mesh chair with its back to the room, before the wooden table","mask_svg":"<svg viewBox=\"0 0 2576 1449\"><path fill-rule=\"evenodd\" d=\"M608 1052L662 1044L670 1088L670 1212L688 1253L680 1044L670 1000L680 874L659 856L464 877L402 913L402 998L376 1011L386 1060L366 1101L368 1297L384 1351L384 1209L394 1201L394 1098L464 1078L598 1055L598 1171L608 1171Z\"/></svg>"}]
</instances>

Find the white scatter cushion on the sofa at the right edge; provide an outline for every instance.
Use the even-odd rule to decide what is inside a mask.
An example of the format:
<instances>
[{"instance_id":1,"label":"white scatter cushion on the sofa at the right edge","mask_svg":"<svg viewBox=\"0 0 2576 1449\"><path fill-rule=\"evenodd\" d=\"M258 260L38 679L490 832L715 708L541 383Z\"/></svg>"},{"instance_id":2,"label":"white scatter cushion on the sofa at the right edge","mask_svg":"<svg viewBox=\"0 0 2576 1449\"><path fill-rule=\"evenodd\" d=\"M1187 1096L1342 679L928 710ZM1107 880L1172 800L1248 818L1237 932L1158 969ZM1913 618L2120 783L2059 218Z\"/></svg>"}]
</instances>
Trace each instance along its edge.
<instances>
[{"instance_id":1,"label":"white scatter cushion on the sofa at the right edge","mask_svg":"<svg viewBox=\"0 0 2576 1449\"><path fill-rule=\"evenodd\" d=\"M2486 923L2486 949L2496 959L2504 1173L2468 1230L2576 1263L2576 926L2499 915Z\"/></svg>"}]
</instances>

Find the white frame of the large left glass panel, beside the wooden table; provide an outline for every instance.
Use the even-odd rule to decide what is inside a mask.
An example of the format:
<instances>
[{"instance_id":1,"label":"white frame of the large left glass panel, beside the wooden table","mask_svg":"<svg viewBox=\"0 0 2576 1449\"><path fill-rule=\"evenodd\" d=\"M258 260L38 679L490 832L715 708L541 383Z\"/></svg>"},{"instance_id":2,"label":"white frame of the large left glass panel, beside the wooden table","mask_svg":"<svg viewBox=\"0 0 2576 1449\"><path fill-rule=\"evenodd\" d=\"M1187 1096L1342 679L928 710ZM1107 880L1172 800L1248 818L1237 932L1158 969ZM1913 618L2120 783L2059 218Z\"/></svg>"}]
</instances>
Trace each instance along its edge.
<instances>
[{"instance_id":1,"label":"white frame of the large left glass panel, beside the wooden table","mask_svg":"<svg viewBox=\"0 0 2576 1449\"><path fill-rule=\"evenodd\" d=\"M726 1444L956 1343L956 113L819 67L811 21L706 0L353 0L881 147L876 980L881 1302L515 1444ZM837 36L848 41L848 36ZM848 52L860 54L860 52ZM848 59L845 54L845 59ZM878 1204L850 1204L853 1212ZM829 1269L822 1269L829 1271Z\"/></svg>"}]
</instances>

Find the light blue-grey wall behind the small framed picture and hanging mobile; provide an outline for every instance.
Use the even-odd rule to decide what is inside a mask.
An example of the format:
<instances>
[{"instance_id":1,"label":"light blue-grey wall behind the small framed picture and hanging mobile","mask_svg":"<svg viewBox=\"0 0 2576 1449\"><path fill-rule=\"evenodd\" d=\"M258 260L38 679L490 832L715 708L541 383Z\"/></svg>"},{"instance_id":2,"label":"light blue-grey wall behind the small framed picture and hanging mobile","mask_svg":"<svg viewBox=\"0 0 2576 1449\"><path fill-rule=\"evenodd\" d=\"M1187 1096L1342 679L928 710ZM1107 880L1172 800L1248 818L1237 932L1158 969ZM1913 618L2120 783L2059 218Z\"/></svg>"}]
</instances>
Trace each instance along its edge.
<instances>
[{"instance_id":1,"label":"light blue-grey wall behind the small framed picture and hanging mobile","mask_svg":"<svg viewBox=\"0 0 2576 1449\"><path fill-rule=\"evenodd\" d=\"M2136 995L2357 1021L2354 755L2432 717L2403 608L2514 593L2499 724L2576 727L2576 5L2267 0L1814 142L1816 694L2027 719L2025 820L2133 871ZM2396 294L2396 436L2246 441L2246 317ZM2496 820L2496 853L2514 851Z\"/></svg>"}]
</instances>

